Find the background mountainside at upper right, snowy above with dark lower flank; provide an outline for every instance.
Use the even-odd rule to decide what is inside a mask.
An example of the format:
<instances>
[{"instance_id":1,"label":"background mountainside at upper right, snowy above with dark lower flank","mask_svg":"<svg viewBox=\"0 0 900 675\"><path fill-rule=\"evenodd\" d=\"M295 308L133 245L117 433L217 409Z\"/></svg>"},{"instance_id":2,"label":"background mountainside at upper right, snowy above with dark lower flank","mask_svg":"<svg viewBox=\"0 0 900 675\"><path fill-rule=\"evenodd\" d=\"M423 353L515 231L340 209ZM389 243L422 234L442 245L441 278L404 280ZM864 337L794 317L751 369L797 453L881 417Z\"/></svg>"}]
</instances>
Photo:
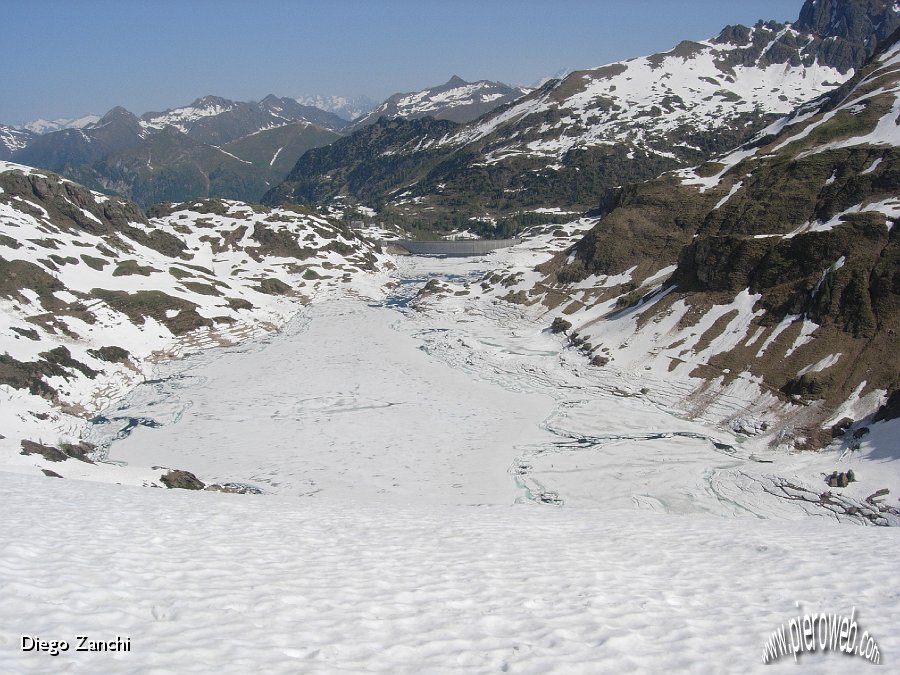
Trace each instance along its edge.
<instances>
[{"instance_id":1,"label":"background mountainside at upper right, snowy above with dark lower flank","mask_svg":"<svg viewBox=\"0 0 900 675\"><path fill-rule=\"evenodd\" d=\"M397 143L381 141L405 166L393 176L380 171L380 158L361 154L348 158L360 179L341 182L303 157L277 194L306 202L337 194L438 226L458 213L495 220L589 210L617 186L749 140L845 81L898 25L893 1L808 0L795 24L729 26L710 40L551 81L436 143L423 137L430 151L418 164L418 146L398 126ZM304 188L295 191L298 176Z\"/></svg>"}]
</instances>

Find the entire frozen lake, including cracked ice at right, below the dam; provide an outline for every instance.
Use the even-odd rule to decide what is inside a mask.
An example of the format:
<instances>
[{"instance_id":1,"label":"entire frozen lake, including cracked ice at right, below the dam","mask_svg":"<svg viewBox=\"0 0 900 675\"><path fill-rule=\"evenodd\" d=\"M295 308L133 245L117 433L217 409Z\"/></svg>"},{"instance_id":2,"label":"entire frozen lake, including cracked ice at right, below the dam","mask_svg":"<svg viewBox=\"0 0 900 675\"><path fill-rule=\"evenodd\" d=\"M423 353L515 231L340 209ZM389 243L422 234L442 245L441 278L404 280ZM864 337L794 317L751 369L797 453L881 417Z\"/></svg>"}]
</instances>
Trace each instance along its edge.
<instances>
[{"instance_id":1,"label":"entire frozen lake, including cracked ice at right, below the dam","mask_svg":"<svg viewBox=\"0 0 900 675\"><path fill-rule=\"evenodd\" d=\"M398 264L387 297L338 293L279 333L163 364L94 425L92 440L121 437L111 461L285 496L806 512L771 494L771 460L623 395L517 306L409 307L432 277L477 282L483 259ZM829 461L782 456L779 473Z\"/></svg>"}]
</instances>

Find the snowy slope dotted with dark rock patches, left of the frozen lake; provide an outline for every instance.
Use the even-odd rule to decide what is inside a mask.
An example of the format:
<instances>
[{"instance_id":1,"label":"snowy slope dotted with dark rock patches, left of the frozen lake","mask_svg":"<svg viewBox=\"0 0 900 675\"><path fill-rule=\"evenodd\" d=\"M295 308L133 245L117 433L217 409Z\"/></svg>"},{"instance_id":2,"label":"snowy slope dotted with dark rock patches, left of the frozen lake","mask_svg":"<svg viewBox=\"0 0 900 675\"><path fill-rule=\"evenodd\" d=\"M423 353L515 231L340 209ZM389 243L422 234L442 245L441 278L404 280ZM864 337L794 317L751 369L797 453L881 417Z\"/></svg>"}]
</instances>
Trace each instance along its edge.
<instances>
[{"instance_id":1,"label":"snowy slope dotted with dark rock patches, left of the frozen lake","mask_svg":"<svg viewBox=\"0 0 900 675\"><path fill-rule=\"evenodd\" d=\"M274 330L332 285L379 283L372 247L310 213L210 200L154 215L0 165L4 466L103 474L53 460L83 455L87 420L154 361Z\"/></svg>"}]
</instances>

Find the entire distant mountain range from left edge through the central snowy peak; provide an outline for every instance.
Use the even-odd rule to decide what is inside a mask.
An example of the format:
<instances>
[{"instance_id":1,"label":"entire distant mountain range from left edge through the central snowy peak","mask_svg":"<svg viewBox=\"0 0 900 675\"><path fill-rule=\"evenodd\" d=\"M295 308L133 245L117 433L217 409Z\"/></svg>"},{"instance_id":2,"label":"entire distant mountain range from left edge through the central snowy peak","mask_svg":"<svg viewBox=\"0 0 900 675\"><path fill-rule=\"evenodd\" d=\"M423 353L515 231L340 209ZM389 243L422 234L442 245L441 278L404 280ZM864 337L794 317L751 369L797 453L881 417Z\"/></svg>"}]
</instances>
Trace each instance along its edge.
<instances>
[{"instance_id":1,"label":"entire distant mountain range from left edge through the central snowy peak","mask_svg":"<svg viewBox=\"0 0 900 675\"><path fill-rule=\"evenodd\" d=\"M453 78L443 87L412 96L418 108L410 106L411 95L391 97L378 116L415 117L427 111L469 120L521 91ZM344 114L371 108L367 99L306 100ZM204 96L187 106L140 117L116 107L102 118L30 125L47 131L42 134L0 126L0 159L57 171L145 207L207 196L259 201L308 149L327 145L377 118L363 114L351 125L335 112L291 98L269 95L258 102L241 102Z\"/></svg>"}]
</instances>

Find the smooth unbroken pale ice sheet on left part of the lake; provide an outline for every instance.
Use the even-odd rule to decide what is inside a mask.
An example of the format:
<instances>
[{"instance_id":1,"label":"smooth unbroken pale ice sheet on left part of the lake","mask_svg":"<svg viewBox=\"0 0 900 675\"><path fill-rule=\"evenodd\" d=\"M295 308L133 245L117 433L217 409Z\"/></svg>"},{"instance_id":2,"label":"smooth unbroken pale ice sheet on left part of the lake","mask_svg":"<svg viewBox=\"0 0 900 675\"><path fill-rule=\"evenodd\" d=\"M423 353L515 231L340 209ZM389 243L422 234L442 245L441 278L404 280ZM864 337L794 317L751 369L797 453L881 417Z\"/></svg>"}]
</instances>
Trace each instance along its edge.
<instances>
[{"instance_id":1,"label":"smooth unbroken pale ice sheet on left part of the lake","mask_svg":"<svg viewBox=\"0 0 900 675\"><path fill-rule=\"evenodd\" d=\"M416 288L403 284L385 304ZM411 321L361 298L317 302L265 339L164 365L96 429L152 420L110 459L267 492L514 502L510 467L521 446L550 440L539 422L552 400L448 367L398 325Z\"/></svg>"}]
</instances>

